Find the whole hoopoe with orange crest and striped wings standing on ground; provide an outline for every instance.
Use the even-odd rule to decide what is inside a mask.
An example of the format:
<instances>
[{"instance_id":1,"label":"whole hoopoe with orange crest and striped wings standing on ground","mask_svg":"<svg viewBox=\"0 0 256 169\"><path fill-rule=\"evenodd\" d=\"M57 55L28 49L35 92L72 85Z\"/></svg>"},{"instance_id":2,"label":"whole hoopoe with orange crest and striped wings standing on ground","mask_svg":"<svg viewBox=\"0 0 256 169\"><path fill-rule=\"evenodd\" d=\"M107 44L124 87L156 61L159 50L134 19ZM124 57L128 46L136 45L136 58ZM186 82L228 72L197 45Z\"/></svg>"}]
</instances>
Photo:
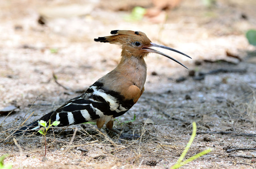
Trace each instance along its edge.
<instances>
[{"instance_id":1,"label":"whole hoopoe with orange crest and striped wings standing on ground","mask_svg":"<svg viewBox=\"0 0 256 169\"><path fill-rule=\"evenodd\" d=\"M38 129L40 120L49 121L50 119L60 121L58 127L96 121L99 129L106 124L109 130L117 132L113 129L114 118L127 112L144 91L147 73L144 58L150 52L168 57L184 66L174 58L151 47L172 50L189 57L173 48L152 43L146 34L140 31L114 30L110 33L111 36L99 37L94 41L122 45L122 58L116 68L97 80L82 95L21 128L14 135Z\"/></svg>"}]
</instances>

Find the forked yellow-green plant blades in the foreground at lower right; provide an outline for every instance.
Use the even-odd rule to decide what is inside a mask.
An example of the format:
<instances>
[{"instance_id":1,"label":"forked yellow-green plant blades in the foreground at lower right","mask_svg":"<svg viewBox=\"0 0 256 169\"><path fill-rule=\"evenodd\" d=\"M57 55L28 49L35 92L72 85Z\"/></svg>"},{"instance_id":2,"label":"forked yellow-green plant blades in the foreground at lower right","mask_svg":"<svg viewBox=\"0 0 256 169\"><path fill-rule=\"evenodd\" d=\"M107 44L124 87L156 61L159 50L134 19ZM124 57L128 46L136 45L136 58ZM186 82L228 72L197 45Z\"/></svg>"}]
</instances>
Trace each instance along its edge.
<instances>
[{"instance_id":1,"label":"forked yellow-green plant blades in the foreground at lower right","mask_svg":"<svg viewBox=\"0 0 256 169\"><path fill-rule=\"evenodd\" d=\"M190 161L192 161L192 160L194 160L194 159L196 159L196 158L199 158L199 157L201 157L201 156L207 154L208 152L212 151L211 149L207 149L207 150L204 150L204 151L202 151L202 152L200 152L200 153L197 153L196 155L194 155L194 156L188 158L188 159L185 160L185 161L182 161L183 158L185 157L186 153L188 152L188 149L189 149L189 147L191 146L191 144L192 144L192 142L193 142L195 136L196 136L196 122L193 121L192 125L193 125L193 132L192 132L192 135L191 135L191 137L190 137L190 139L189 139L189 141L188 141L188 144L186 145L184 151L183 151L182 154L180 155L180 158L178 159L177 163L176 163L175 165L173 165L173 166L171 167L171 169L180 168L182 165L185 165L185 164L189 163Z\"/></svg>"}]
</instances>

